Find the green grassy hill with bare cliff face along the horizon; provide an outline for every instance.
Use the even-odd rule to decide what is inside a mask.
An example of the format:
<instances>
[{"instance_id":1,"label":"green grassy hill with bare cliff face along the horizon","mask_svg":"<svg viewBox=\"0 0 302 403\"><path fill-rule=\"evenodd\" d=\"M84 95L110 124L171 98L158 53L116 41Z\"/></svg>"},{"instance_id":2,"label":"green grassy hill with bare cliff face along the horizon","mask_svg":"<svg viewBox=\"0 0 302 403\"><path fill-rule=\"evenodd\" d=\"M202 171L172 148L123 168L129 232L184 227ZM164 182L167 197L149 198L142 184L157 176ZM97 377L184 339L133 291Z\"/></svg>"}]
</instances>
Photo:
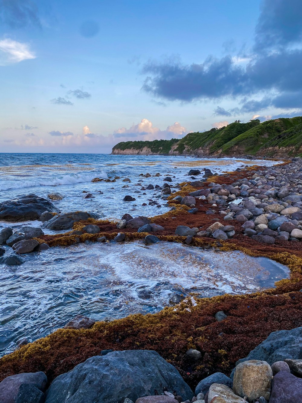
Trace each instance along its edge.
<instances>
[{"instance_id":1,"label":"green grassy hill with bare cliff face along the horizon","mask_svg":"<svg viewBox=\"0 0 302 403\"><path fill-rule=\"evenodd\" d=\"M143 150L144 149L144 150ZM182 139L126 141L113 154L302 155L302 116L248 123L235 121L221 129L188 133Z\"/></svg>"}]
</instances>

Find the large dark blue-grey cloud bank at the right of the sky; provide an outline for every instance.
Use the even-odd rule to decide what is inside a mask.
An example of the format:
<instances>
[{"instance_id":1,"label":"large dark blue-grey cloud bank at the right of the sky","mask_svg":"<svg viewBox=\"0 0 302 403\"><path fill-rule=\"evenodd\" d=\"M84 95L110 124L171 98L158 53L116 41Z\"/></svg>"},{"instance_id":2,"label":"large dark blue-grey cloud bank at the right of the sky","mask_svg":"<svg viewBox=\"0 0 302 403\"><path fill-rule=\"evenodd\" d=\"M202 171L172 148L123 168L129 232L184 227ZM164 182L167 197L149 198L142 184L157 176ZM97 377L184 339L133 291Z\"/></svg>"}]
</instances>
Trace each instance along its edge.
<instances>
[{"instance_id":1,"label":"large dark blue-grey cloud bank at the right of the sky","mask_svg":"<svg viewBox=\"0 0 302 403\"><path fill-rule=\"evenodd\" d=\"M189 65L173 59L149 61L142 71L147 75L143 89L159 98L184 102L246 98L240 108L217 107L214 114L221 116L269 106L301 108L301 21L301 0L264 0L254 49L249 55L244 53L245 60L242 55L239 62L228 55L209 56L201 64ZM248 100L259 98L260 93L266 93L262 100Z\"/></svg>"}]
</instances>

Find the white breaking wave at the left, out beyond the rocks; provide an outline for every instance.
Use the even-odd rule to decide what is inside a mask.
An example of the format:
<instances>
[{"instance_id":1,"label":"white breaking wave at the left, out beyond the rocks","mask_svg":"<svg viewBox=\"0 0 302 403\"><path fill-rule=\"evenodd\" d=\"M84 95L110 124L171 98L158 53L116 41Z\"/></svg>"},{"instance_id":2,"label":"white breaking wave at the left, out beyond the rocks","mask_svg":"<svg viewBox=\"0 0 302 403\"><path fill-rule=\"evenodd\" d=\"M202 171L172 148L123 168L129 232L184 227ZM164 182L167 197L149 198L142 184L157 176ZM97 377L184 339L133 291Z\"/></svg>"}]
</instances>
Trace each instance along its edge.
<instances>
[{"instance_id":1,"label":"white breaking wave at the left, out beyond the rocks","mask_svg":"<svg viewBox=\"0 0 302 403\"><path fill-rule=\"evenodd\" d=\"M10 181L0 182L0 191L5 191L9 189L21 189L24 187L33 187L33 186L61 186L61 185L72 185L75 183L85 183L91 182L93 178L103 178L107 179L108 175L105 171L101 171L99 173L94 174L75 174L75 175L63 175L58 178L44 178L44 179L32 179L23 181L21 179Z\"/></svg>"}]
</instances>

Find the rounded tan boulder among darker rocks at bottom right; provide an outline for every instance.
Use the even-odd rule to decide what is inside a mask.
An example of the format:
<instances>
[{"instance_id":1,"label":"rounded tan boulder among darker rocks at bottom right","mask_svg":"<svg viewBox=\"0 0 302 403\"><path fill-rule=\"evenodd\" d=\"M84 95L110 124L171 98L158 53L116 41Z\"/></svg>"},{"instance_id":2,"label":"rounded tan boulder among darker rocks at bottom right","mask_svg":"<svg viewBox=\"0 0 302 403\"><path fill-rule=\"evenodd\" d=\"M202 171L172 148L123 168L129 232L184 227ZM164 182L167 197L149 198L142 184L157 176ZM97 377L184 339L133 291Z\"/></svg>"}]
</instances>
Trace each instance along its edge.
<instances>
[{"instance_id":1,"label":"rounded tan boulder among darker rocks at bottom right","mask_svg":"<svg viewBox=\"0 0 302 403\"><path fill-rule=\"evenodd\" d=\"M266 361L251 359L235 368L233 391L252 402L271 391L273 371Z\"/></svg>"}]
</instances>

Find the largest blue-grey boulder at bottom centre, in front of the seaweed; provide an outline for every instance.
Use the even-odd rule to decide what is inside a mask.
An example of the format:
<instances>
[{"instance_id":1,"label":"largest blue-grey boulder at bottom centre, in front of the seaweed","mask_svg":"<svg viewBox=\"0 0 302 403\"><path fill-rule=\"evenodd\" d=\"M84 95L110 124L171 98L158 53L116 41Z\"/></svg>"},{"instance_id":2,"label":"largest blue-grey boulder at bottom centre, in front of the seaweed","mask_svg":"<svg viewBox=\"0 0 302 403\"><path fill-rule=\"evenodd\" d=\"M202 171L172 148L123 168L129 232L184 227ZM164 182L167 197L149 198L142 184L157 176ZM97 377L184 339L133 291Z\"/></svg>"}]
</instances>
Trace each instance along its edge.
<instances>
[{"instance_id":1,"label":"largest blue-grey boulder at bottom centre, in front of the seaweed","mask_svg":"<svg viewBox=\"0 0 302 403\"><path fill-rule=\"evenodd\" d=\"M113 351L88 358L55 378L46 392L46 403L123 403L141 396L175 391L183 400L194 394L179 372L158 353L148 350ZM70 400L71 401L71 400Z\"/></svg>"}]
</instances>

